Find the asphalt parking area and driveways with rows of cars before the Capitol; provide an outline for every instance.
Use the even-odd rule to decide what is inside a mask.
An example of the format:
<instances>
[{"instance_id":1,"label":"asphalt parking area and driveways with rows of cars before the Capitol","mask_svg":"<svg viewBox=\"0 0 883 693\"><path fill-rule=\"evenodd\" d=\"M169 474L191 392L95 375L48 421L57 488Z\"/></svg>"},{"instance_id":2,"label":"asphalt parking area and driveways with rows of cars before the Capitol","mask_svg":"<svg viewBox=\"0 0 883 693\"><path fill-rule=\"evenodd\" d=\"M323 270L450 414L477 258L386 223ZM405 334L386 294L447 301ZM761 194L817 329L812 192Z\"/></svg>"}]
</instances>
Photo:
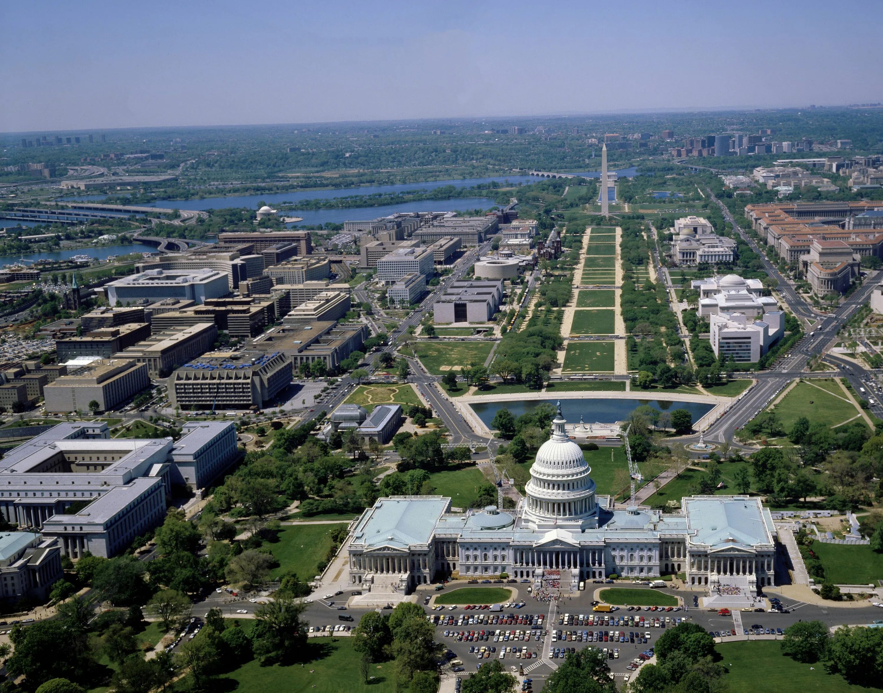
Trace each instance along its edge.
<instances>
[{"instance_id":1,"label":"asphalt parking area and driveways with rows of cars before the Capitol","mask_svg":"<svg viewBox=\"0 0 883 693\"><path fill-rule=\"evenodd\" d=\"M459 585L449 584L448 589L455 586ZM585 591L565 591L558 602L539 601L528 595L509 605L501 605L501 611L494 612L490 605L476 608L472 605L426 606L426 597L436 593L434 585L426 585L419 588L417 603L424 607L427 617L435 621L436 641L452 653L449 663L442 667L446 678L452 674L468 676L479 665L497 659L512 674L524 671L524 676L519 678L531 678L532 688L537 691L542 689L547 676L561 664L566 652L585 647L597 647L602 651L607 648L608 665L617 684L626 681L627 675L634 678L645 661L642 653L652 651L656 640L666 629L675 626L678 619L698 623L715 637L720 637L720 642L726 643L736 637L773 639L779 637L779 629L785 629L797 621L819 619L829 625L871 623L883 614L883 611L870 604L857 608L837 608L790 599L781 601L787 614L771 613L768 611L771 605L767 605L764 613L752 610L721 614L719 609L693 606L693 598L696 597L698 601L706 596L705 592L671 589L654 591L678 597L684 606L655 607L655 610L652 606L632 606L631 610L628 606L620 606L615 611L603 613L592 610L596 589L601 589L601 586L587 584ZM781 595L771 591L769 596L776 598ZM335 626L354 628L361 615L368 611L351 607L339 611L337 602L334 606L328 606L323 599L313 599L315 601L308 605L305 618L314 629ZM341 616L352 617L353 621L342 621ZM753 629L755 626L762 631ZM769 634L766 633L767 629ZM733 631L736 631L736 635ZM763 635L760 635L761 632ZM482 652L481 648L485 650ZM635 659L642 664L635 664L630 669ZM455 672L455 668L462 670Z\"/></svg>"}]
</instances>

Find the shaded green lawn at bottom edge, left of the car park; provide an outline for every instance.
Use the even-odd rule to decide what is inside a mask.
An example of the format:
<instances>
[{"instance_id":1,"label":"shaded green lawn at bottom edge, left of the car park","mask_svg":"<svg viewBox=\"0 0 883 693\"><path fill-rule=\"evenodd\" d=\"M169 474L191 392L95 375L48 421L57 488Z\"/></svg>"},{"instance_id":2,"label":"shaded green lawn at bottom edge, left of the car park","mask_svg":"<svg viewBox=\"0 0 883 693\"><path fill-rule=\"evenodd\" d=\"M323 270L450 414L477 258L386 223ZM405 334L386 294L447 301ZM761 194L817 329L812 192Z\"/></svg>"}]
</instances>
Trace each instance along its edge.
<instances>
[{"instance_id":1,"label":"shaded green lawn at bottom edge, left of the car park","mask_svg":"<svg viewBox=\"0 0 883 693\"><path fill-rule=\"evenodd\" d=\"M339 693L342 690L347 693L393 693L396 690L392 661L372 664L374 679L368 683L362 680L358 673L361 655L352 649L351 637L310 638L305 650L304 666L298 662L284 667L265 667L260 665L260 659L252 659L230 674L215 677L212 689L236 690L236 693L267 693L270 690L284 693Z\"/></svg>"}]
</instances>

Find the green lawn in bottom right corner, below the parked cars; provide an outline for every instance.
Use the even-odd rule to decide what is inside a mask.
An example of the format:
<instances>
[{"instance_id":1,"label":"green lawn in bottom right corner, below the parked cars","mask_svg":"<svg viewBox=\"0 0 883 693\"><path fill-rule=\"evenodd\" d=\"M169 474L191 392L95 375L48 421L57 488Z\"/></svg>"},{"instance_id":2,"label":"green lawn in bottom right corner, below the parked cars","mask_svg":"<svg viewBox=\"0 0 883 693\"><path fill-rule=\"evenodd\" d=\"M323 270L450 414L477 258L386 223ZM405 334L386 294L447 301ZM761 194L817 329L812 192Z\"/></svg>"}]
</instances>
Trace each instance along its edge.
<instances>
[{"instance_id":1,"label":"green lawn in bottom right corner, below the parked cars","mask_svg":"<svg viewBox=\"0 0 883 693\"><path fill-rule=\"evenodd\" d=\"M759 622L759 621L758 621ZM781 644L774 640L750 640L719 644L715 650L721 655L721 664L728 669L724 681L729 693L757 693L760 686L766 690L824 691L824 693L863 693L866 689L847 683L840 674L827 674L821 664L800 664L781 653Z\"/></svg>"}]
</instances>

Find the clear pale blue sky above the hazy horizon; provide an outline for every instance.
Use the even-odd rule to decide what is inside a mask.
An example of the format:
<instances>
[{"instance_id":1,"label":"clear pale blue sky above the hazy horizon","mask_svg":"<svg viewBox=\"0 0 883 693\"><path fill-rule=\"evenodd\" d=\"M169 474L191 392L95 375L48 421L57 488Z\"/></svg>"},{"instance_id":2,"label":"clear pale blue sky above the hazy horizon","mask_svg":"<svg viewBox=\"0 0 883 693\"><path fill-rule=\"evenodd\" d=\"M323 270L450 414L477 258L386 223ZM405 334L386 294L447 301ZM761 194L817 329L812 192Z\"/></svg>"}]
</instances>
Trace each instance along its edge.
<instances>
[{"instance_id":1,"label":"clear pale blue sky above the hazy horizon","mask_svg":"<svg viewBox=\"0 0 883 693\"><path fill-rule=\"evenodd\" d=\"M883 2L0 2L0 132L883 101Z\"/></svg>"}]
</instances>

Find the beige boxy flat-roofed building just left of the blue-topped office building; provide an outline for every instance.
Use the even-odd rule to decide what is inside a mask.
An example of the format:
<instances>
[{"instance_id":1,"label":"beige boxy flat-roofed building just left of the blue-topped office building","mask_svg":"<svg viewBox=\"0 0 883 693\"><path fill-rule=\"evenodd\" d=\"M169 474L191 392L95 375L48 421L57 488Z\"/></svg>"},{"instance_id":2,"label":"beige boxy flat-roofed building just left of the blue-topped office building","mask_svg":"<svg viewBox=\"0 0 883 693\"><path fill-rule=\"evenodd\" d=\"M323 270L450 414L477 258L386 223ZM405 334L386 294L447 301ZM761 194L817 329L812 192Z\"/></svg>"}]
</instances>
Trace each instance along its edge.
<instances>
[{"instance_id":1,"label":"beige boxy flat-roofed building just left of the blue-topped office building","mask_svg":"<svg viewBox=\"0 0 883 693\"><path fill-rule=\"evenodd\" d=\"M94 401L98 411L111 411L149 385L147 365L127 359L101 359L43 388L44 405L53 413L85 413Z\"/></svg>"}]
</instances>

